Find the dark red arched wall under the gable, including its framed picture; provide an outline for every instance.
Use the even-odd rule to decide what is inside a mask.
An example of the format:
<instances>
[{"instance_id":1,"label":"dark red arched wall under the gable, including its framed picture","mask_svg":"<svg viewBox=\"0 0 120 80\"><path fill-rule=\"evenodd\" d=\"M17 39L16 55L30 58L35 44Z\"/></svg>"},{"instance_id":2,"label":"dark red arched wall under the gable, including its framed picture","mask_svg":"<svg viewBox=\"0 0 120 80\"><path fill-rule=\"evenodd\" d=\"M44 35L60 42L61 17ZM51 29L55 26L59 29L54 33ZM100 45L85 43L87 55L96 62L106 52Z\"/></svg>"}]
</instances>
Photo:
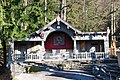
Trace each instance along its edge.
<instances>
[{"instance_id":1,"label":"dark red arched wall under the gable, including its framed picture","mask_svg":"<svg viewBox=\"0 0 120 80\"><path fill-rule=\"evenodd\" d=\"M45 49L73 49L71 37L62 31L55 31L49 34L45 42Z\"/></svg>"}]
</instances>

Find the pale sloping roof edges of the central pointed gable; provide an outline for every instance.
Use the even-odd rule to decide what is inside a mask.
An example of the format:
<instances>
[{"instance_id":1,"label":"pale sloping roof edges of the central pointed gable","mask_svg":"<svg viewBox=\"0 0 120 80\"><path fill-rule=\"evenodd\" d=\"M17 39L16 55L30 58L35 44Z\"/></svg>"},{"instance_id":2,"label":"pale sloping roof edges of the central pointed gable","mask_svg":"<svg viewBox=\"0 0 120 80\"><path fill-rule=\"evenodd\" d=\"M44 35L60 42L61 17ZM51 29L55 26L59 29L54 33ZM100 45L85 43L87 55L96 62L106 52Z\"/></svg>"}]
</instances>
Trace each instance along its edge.
<instances>
[{"instance_id":1,"label":"pale sloping roof edges of the central pointed gable","mask_svg":"<svg viewBox=\"0 0 120 80\"><path fill-rule=\"evenodd\" d=\"M53 21L51 21L50 23L48 23L46 26L44 26L43 28L41 28L40 30L36 31L37 34L39 34L41 31L47 29L48 27L50 27L52 24L54 24L55 22L62 22L63 24L65 24L66 26L68 26L69 28L71 28L72 30L74 30L77 33L81 33L81 31L79 31L78 29L76 29L75 27L73 27L72 25L70 25L68 22L66 22L65 20L61 19L59 16L57 16Z\"/></svg>"}]
</instances>

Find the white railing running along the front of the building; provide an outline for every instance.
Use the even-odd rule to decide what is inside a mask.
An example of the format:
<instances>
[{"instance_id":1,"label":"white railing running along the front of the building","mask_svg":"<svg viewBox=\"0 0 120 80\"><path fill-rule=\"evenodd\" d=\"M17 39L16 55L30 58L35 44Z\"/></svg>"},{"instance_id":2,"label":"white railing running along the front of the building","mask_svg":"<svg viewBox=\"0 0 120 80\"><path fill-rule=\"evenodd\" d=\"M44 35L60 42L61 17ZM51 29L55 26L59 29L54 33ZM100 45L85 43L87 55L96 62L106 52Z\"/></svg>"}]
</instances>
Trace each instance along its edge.
<instances>
[{"instance_id":1,"label":"white railing running along the front of the building","mask_svg":"<svg viewBox=\"0 0 120 80\"><path fill-rule=\"evenodd\" d=\"M42 60L64 60L64 59L73 59L73 60L92 60L93 55L90 52L78 52L74 53L31 53L31 54L15 54L14 56L16 61L42 61ZM104 52L95 52L94 59L104 59Z\"/></svg>"}]
</instances>

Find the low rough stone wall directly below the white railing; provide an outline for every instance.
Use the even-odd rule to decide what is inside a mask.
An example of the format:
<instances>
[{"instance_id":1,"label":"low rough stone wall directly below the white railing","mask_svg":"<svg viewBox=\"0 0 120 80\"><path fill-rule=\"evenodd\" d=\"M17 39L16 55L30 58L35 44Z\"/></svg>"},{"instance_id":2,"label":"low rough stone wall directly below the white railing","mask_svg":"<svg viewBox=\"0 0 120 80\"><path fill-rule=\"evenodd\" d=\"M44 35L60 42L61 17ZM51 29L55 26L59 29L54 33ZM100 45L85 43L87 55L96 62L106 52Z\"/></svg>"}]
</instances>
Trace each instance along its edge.
<instances>
[{"instance_id":1,"label":"low rough stone wall directly below the white railing","mask_svg":"<svg viewBox=\"0 0 120 80\"><path fill-rule=\"evenodd\" d=\"M58 68L58 67L63 67L64 69L79 69L83 68L86 65L88 65L87 62L80 62L80 61L49 61L49 62L42 62L42 63L37 63L37 62L21 62L18 63L19 66L25 67L25 66L44 66L44 67L49 67L49 68Z\"/></svg>"}]
</instances>

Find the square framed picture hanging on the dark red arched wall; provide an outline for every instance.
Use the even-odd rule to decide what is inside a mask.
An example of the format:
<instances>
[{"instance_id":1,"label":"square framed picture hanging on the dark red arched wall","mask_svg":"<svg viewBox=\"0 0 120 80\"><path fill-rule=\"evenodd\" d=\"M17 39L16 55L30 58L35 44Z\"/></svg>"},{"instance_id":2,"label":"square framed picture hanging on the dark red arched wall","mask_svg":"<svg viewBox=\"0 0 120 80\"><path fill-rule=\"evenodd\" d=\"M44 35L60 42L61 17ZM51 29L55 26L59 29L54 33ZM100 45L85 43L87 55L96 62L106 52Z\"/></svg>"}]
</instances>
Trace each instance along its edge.
<instances>
[{"instance_id":1,"label":"square framed picture hanging on the dark red arched wall","mask_svg":"<svg viewBox=\"0 0 120 80\"><path fill-rule=\"evenodd\" d=\"M64 34L55 34L54 37L54 45L55 46L63 46L65 45L65 35Z\"/></svg>"}]
</instances>

